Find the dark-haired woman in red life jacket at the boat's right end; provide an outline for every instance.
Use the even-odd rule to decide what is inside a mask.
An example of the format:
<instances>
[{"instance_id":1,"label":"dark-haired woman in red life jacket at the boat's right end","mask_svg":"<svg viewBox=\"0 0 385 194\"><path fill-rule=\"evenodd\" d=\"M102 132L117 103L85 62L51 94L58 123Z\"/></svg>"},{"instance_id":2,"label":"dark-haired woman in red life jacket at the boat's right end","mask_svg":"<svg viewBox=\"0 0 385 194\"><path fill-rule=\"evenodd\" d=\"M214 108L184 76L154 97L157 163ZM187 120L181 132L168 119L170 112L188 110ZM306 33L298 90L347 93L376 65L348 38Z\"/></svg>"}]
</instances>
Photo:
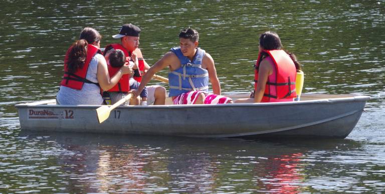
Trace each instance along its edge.
<instances>
[{"instance_id":1,"label":"dark-haired woman in red life jacket at the boat's right end","mask_svg":"<svg viewBox=\"0 0 385 194\"><path fill-rule=\"evenodd\" d=\"M293 101L297 97L295 82L300 68L294 54L283 50L277 33L263 33L255 64L254 98L238 99L236 103Z\"/></svg>"}]
</instances>

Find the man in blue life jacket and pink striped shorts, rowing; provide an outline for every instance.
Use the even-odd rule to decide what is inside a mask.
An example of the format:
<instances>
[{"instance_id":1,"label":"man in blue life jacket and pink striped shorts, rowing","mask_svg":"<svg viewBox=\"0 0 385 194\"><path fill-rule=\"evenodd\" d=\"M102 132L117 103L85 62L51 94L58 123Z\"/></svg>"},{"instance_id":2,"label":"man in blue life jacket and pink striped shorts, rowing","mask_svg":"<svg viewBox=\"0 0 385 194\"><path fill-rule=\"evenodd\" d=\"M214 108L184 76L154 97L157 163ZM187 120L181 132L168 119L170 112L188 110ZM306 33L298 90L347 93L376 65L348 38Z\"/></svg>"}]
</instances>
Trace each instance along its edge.
<instances>
[{"instance_id":1,"label":"man in blue life jacket and pink striped shorts, rowing","mask_svg":"<svg viewBox=\"0 0 385 194\"><path fill-rule=\"evenodd\" d=\"M214 60L210 54L198 48L199 33L194 29L184 29L179 33L179 47L170 49L142 77L134 97L151 80L152 76L169 67L169 96L174 104L224 104L232 99L221 96L221 85L217 77ZM209 93L209 80L213 94Z\"/></svg>"}]
</instances>

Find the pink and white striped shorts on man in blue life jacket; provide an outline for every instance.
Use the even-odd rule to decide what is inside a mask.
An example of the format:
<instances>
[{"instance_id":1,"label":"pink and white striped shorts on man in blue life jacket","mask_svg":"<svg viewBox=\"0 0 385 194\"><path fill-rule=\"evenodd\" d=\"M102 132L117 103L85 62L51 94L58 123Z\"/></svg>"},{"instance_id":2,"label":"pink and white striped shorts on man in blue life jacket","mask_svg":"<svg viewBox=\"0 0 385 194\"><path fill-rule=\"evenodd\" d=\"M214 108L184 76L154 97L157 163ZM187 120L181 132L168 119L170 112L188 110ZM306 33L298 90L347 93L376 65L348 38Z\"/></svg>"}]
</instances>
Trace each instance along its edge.
<instances>
[{"instance_id":1,"label":"pink and white striped shorts on man in blue life jacket","mask_svg":"<svg viewBox=\"0 0 385 194\"><path fill-rule=\"evenodd\" d=\"M197 101L197 97L199 96L200 93L204 93L206 98L205 98L205 103L204 104L226 104L229 101L232 101L231 98L226 97L226 96L220 96L217 94L206 94L205 92L202 91L190 91L186 93L182 93L179 96L172 97L172 102L174 104L195 104Z\"/></svg>"}]
</instances>

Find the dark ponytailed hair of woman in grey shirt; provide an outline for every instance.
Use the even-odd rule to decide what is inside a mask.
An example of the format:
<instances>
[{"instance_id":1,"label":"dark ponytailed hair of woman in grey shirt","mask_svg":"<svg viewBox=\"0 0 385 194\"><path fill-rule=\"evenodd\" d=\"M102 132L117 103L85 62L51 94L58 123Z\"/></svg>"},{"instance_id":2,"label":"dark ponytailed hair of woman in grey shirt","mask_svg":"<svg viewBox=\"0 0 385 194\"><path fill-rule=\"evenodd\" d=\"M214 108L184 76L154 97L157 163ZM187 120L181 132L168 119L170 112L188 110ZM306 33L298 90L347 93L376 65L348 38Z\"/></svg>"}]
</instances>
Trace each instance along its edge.
<instances>
[{"instance_id":1,"label":"dark ponytailed hair of woman in grey shirt","mask_svg":"<svg viewBox=\"0 0 385 194\"><path fill-rule=\"evenodd\" d=\"M87 58L88 44L99 42L102 39L99 32L93 28L86 27L80 33L79 40L72 44L68 54L67 70L75 73L78 69L82 69Z\"/></svg>"}]
</instances>

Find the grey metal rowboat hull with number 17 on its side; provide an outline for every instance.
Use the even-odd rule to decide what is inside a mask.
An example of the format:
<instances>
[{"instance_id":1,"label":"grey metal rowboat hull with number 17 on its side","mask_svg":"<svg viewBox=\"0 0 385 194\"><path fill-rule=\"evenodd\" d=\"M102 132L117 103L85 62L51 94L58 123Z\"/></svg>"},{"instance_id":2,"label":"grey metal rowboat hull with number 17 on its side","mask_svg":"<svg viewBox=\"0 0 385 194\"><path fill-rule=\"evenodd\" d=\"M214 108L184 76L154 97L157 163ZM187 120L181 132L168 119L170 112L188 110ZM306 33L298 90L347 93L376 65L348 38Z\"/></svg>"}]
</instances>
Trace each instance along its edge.
<instances>
[{"instance_id":1,"label":"grey metal rowboat hull with number 17 on its side","mask_svg":"<svg viewBox=\"0 0 385 194\"><path fill-rule=\"evenodd\" d=\"M16 107L21 128L25 130L197 137L345 138L359 120L368 99L367 96L351 96L282 103L121 106L100 124L96 115L99 106L37 102Z\"/></svg>"}]
</instances>

